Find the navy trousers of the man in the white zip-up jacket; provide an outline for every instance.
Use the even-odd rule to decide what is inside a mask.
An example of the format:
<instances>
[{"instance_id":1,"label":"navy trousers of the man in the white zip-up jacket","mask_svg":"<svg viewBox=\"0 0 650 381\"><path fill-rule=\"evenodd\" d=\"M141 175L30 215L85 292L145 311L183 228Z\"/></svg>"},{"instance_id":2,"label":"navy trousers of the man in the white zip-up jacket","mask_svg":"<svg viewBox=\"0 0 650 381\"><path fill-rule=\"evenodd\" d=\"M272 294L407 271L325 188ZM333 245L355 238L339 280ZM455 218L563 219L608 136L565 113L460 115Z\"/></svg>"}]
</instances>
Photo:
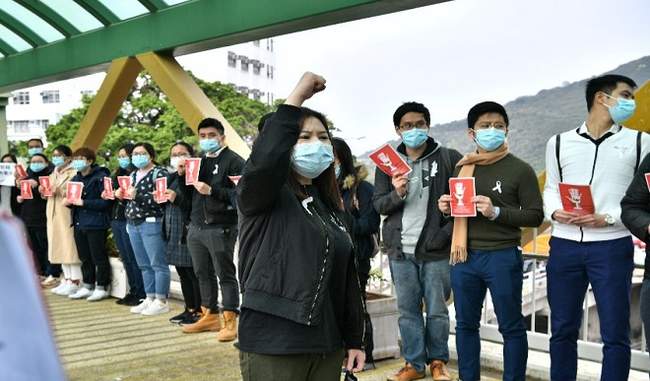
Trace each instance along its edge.
<instances>
[{"instance_id":1,"label":"navy trousers of the man in the white zip-up jacket","mask_svg":"<svg viewBox=\"0 0 650 381\"><path fill-rule=\"evenodd\" d=\"M546 266L551 307L551 380L576 379L578 332L591 283L603 340L601 380L627 380L634 246L630 237L577 242L552 237Z\"/></svg>"}]
</instances>

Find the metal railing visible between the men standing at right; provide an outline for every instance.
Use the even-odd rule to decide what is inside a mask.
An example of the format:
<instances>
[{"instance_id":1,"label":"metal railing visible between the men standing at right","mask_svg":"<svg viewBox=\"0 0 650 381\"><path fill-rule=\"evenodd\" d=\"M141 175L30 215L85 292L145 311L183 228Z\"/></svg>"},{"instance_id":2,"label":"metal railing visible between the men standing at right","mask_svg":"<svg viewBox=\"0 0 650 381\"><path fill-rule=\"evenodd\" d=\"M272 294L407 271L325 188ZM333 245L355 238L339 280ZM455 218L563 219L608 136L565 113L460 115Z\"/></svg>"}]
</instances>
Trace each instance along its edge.
<instances>
[{"instance_id":1,"label":"metal railing visible between the men standing at right","mask_svg":"<svg viewBox=\"0 0 650 381\"><path fill-rule=\"evenodd\" d=\"M537 231L535 231L534 237L537 237ZM522 312L527 321L530 319L530 327L527 332L529 348L548 353L551 332L551 312L546 300L546 262L548 256L544 254L536 254L537 241L535 239L532 242L532 251L534 253L523 254L525 269L524 284L522 288ZM389 260L383 251L377 254L373 259L372 268L373 276L371 276L369 282L369 291L384 295L394 295L393 284L390 280ZM643 269L643 266L636 265L635 268ZM381 274L381 277L379 274ZM637 293L636 295L638 296L639 294ZM633 300L633 302L634 301L635 300ZM592 317L590 316L590 310L594 308L595 299L591 291L591 286L589 286L585 295L583 321L580 328L580 339L578 340L578 358L594 362L602 362L603 344L598 337L592 337L593 335L590 335L589 329L590 324L593 323L591 321ZM542 327L538 327L538 322L541 318L546 319L546 324L542 323ZM451 330L454 332L455 313L451 306L450 320ZM483 304L480 334L482 340L501 344L503 343L503 338L498 331L496 315L494 313L494 307L492 306L489 292L486 294ZM631 369L650 372L650 358L648 357L648 353L644 351L646 348L646 342L643 327L641 327L640 336L640 341L632 343Z\"/></svg>"}]
</instances>

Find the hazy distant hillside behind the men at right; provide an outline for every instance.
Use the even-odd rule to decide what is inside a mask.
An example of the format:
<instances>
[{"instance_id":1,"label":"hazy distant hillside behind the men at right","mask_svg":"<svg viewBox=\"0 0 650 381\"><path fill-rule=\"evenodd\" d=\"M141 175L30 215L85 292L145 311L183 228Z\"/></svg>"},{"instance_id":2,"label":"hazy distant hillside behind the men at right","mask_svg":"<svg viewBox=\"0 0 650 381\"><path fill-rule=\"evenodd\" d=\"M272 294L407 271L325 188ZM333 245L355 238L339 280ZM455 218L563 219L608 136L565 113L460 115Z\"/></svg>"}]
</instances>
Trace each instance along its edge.
<instances>
[{"instance_id":1,"label":"hazy distant hillside behind the men at right","mask_svg":"<svg viewBox=\"0 0 650 381\"><path fill-rule=\"evenodd\" d=\"M608 73L628 76L641 86L650 79L650 56L621 65ZM584 121L587 112L584 100L586 82L587 79L584 79L542 90L536 95L523 96L505 104L510 118L508 141L511 151L530 163L536 171L544 169L546 141ZM430 134L445 146L465 153L472 149L472 143L465 135L466 128L466 120L457 120L433 126ZM367 157L368 153L361 155L360 159L365 161Z\"/></svg>"}]
</instances>

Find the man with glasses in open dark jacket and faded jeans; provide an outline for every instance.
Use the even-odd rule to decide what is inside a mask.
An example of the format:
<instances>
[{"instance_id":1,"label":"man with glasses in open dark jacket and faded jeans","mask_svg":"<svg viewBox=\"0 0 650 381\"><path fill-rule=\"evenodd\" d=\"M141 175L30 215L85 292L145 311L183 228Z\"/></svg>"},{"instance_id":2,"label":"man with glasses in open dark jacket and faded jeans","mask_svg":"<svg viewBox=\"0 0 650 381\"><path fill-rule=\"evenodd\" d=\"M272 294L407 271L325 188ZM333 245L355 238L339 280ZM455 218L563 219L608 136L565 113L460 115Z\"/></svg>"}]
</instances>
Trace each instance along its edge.
<instances>
[{"instance_id":1,"label":"man with glasses in open dark jacket and faded jeans","mask_svg":"<svg viewBox=\"0 0 650 381\"><path fill-rule=\"evenodd\" d=\"M393 115L402 138L397 152L413 169L389 177L375 172L375 209L386 216L382 236L400 312L399 329L406 365L390 377L410 381L425 376L427 364L434 380L450 380L449 236L451 221L436 201L447 193L448 180L461 154L429 137L431 116L421 103L401 105ZM422 318L422 306L426 320Z\"/></svg>"}]
</instances>

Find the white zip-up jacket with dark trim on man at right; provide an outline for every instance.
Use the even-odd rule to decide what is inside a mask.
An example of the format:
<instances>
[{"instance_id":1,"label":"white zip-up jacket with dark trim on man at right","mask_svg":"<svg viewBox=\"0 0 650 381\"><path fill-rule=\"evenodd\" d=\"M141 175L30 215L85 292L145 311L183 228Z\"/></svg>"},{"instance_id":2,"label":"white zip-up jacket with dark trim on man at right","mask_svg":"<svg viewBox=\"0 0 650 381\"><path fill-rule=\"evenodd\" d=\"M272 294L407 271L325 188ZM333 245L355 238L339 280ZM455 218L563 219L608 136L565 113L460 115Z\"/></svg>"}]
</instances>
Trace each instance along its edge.
<instances>
[{"instance_id":1,"label":"white zip-up jacket with dark trim on man at right","mask_svg":"<svg viewBox=\"0 0 650 381\"><path fill-rule=\"evenodd\" d=\"M559 139L559 151L556 151L557 135L546 143L544 215L552 220L553 212L562 209L560 182L591 185L596 213L609 214L615 223L604 228L583 228L552 220L551 235L578 242L629 236L621 222L621 199L640 160L650 151L650 135L613 125L602 137L594 139L583 123L577 129L563 132Z\"/></svg>"}]
</instances>

